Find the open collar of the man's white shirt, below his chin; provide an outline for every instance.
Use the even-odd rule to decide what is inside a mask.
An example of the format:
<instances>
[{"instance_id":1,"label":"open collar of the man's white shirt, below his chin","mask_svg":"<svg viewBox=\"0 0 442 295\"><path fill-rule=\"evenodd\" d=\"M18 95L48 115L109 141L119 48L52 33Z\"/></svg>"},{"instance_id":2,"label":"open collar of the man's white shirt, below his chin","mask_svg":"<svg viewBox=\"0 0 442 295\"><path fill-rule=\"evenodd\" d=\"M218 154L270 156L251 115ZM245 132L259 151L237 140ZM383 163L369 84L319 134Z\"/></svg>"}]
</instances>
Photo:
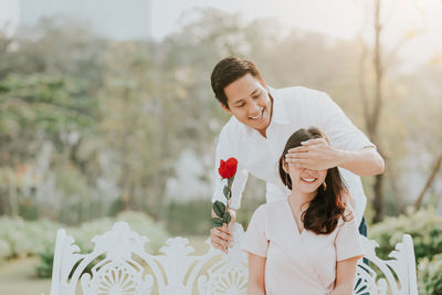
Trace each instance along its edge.
<instances>
[{"instance_id":1,"label":"open collar of the man's white shirt, below his chin","mask_svg":"<svg viewBox=\"0 0 442 295\"><path fill-rule=\"evenodd\" d=\"M273 99L273 110L272 110L272 118L270 122L270 125L267 128L272 126L272 124L281 124L281 125L287 125L290 124L287 112L284 107L284 102L282 95L277 92L277 89L269 87L269 94L271 95L271 99ZM252 127L249 127L245 124L242 124L239 122L234 116L232 116L232 120L235 123L236 126L246 135L252 135L254 133L257 133L257 130L253 129Z\"/></svg>"}]
</instances>

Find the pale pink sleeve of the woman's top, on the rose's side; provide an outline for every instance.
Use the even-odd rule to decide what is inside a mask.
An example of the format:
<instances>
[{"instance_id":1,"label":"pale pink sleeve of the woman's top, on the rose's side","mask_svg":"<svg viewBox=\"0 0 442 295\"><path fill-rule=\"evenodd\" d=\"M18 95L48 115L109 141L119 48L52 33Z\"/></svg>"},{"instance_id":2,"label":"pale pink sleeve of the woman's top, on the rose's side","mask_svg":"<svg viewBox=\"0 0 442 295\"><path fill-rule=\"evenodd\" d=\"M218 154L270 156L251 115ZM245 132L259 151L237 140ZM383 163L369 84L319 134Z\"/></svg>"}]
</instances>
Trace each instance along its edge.
<instances>
[{"instance_id":1,"label":"pale pink sleeve of the woman's top, on the rose's side","mask_svg":"<svg viewBox=\"0 0 442 295\"><path fill-rule=\"evenodd\" d=\"M265 235L265 214L263 207L256 209L244 234L241 250L257 256L267 256L269 240Z\"/></svg>"}]
</instances>

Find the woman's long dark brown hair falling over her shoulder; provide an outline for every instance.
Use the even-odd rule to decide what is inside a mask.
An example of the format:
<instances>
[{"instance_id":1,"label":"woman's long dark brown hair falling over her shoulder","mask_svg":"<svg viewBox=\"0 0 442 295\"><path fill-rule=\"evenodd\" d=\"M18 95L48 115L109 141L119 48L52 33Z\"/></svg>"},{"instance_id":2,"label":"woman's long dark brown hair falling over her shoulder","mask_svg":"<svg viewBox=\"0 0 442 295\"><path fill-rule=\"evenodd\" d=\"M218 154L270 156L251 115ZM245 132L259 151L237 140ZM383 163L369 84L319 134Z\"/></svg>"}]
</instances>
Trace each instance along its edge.
<instances>
[{"instance_id":1,"label":"woman's long dark brown hair falling over her shoulder","mask_svg":"<svg viewBox=\"0 0 442 295\"><path fill-rule=\"evenodd\" d=\"M311 127L308 129L302 128L295 131L285 145L283 155L280 158L280 176L283 183L291 190L292 180L283 169L285 155L288 149L301 146L302 141L314 138L324 138L327 140L318 128ZM305 210L301 217L304 228L317 234L328 234L333 232L338 224L339 218L343 218L344 221L349 220L349 217L345 214L345 196L348 192L337 167L327 170L325 183L325 188L320 186L317 189L316 197L309 202L307 210Z\"/></svg>"}]
</instances>

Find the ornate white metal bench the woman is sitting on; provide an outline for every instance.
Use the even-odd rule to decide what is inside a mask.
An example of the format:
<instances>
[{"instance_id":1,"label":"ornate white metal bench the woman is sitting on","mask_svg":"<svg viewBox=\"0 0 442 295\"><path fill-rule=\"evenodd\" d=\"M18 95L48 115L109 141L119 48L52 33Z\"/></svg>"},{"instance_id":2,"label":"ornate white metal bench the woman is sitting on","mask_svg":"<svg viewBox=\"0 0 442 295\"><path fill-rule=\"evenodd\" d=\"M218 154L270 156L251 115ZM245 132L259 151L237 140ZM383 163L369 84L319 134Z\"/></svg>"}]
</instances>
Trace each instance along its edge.
<instances>
[{"instance_id":1,"label":"ornate white metal bench the woman is sitting on","mask_svg":"<svg viewBox=\"0 0 442 295\"><path fill-rule=\"evenodd\" d=\"M160 249L162 254L151 255L145 249L146 236L126 222L117 222L110 231L92 239L91 253L81 254L74 239L59 230L51 295L246 294L248 257L240 250L244 234L240 224L234 224L233 234L228 255L212 249L209 240L204 255L192 255L193 247L185 238L169 239ZM403 235L387 261L376 256L375 241L362 236L362 244L366 259L383 277L359 261L354 294L418 294L410 235ZM91 272L84 272L94 261Z\"/></svg>"}]
</instances>

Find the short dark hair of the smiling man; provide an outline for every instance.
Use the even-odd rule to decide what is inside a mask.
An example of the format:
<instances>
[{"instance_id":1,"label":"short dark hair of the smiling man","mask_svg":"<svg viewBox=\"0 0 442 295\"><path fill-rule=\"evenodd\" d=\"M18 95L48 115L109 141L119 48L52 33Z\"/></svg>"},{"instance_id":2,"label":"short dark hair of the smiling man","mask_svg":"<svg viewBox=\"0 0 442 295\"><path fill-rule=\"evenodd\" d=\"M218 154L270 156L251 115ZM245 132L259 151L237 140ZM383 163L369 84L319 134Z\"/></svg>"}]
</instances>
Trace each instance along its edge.
<instances>
[{"instance_id":1,"label":"short dark hair of the smiling man","mask_svg":"<svg viewBox=\"0 0 442 295\"><path fill-rule=\"evenodd\" d=\"M210 77L212 89L217 99L227 108L229 108L229 105L224 88L232 82L246 74L254 76L264 86L264 80L262 78L260 70L257 70L257 66L251 61L229 56L220 61L213 67L212 75Z\"/></svg>"}]
</instances>

